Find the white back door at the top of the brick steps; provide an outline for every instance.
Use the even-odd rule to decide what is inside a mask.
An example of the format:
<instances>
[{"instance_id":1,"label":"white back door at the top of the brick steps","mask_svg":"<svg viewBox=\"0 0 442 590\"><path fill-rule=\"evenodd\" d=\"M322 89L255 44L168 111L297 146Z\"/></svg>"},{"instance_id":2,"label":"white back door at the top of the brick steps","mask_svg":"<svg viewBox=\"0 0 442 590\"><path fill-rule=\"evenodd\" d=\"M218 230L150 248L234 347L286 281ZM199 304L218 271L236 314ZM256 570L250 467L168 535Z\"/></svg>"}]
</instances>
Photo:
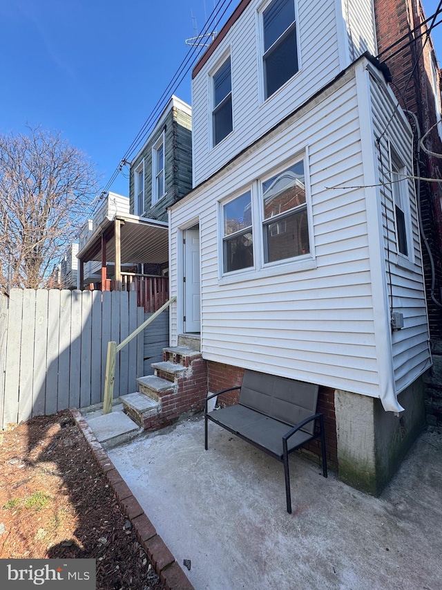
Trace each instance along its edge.
<instances>
[{"instance_id":1,"label":"white back door at the top of the brick steps","mask_svg":"<svg viewBox=\"0 0 442 590\"><path fill-rule=\"evenodd\" d=\"M200 332L200 230L184 232L184 332Z\"/></svg>"}]
</instances>

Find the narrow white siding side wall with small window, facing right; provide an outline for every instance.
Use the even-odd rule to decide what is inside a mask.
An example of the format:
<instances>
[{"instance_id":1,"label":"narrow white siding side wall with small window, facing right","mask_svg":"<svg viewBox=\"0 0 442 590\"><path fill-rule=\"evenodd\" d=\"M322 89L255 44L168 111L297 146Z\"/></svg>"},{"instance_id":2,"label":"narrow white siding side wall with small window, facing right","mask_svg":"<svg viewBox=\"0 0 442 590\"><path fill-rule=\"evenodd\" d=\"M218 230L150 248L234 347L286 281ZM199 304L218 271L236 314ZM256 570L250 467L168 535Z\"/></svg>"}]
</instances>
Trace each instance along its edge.
<instances>
[{"instance_id":1,"label":"narrow white siding side wall with small window, facing right","mask_svg":"<svg viewBox=\"0 0 442 590\"><path fill-rule=\"evenodd\" d=\"M430 338L427 324L425 287L423 282L422 255L419 241L419 220L414 181L407 181L410 194L411 244L410 261L401 261L396 248L394 203L390 181L389 143L406 165L406 173L414 174L410 150L411 130L400 117L391 121L392 102L372 79L372 102L374 108L375 138L382 136L377 149L378 178L387 183L380 189L383 214L383 237L385 242L385 273L389 306L392 311L403 313L404 327L392 333L392 355L396 390L410 385L424 369L430 366L428 348ZM376 146L378 144L376 143ZM407 149L408 148L408 149Z\"/></svg>"}]
</instances>

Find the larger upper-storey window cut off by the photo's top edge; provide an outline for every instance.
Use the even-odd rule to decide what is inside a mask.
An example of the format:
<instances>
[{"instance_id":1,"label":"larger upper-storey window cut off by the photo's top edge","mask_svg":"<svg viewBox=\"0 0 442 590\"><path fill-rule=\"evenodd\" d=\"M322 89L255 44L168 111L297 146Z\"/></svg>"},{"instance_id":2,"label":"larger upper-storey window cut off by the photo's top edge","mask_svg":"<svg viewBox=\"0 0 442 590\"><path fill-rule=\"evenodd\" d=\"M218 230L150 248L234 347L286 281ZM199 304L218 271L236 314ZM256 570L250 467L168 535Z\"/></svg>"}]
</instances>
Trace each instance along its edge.
<instances>
[{"instance_id":1,"label":"larger upper-storey window cut off by the photo's top edge","mask_svg":"<svg viewBox=\"0 0 442 590\"><path fill-rule=\"evenodd\" d=\"M273 0L262 12L265 99L298 71L294 0Z\"/></svg>"}]
</instances>

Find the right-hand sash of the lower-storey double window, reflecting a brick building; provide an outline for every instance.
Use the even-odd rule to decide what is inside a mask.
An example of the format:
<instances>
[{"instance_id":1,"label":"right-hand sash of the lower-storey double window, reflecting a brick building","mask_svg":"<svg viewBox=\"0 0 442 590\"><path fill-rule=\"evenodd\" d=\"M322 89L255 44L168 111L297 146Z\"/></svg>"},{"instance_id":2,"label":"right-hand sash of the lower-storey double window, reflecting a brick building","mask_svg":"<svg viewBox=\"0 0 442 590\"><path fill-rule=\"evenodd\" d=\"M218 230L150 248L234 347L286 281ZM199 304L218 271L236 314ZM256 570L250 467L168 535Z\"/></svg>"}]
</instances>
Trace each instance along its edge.
<instances>
[{"instance_id":1,"label":"right-hand sash of the lower-storey double window, reflecting a brick building","mask_svg":"<svg viewBox=\"0 0 442 590\"><path fill-rule=\"evenodd\" d=\"M309 254L304 163L262 183L265 263Z\"/></svg>"}]
</instances>

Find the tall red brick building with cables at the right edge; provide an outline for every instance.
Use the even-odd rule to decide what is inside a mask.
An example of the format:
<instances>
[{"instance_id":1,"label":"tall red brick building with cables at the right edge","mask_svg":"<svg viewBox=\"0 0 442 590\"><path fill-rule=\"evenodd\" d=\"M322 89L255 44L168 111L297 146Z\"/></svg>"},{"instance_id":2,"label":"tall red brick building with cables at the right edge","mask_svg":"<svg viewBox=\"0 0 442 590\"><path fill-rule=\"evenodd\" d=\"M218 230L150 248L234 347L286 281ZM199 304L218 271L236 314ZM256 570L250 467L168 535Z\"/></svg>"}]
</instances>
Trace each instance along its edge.
<instances>
[{"instance_id":1,"label":"tall red brick building with cables at the right edge","mask_svg":"<svg viewBox=\"0 0 442 590\"><path fill-rule=\"evenodd\" d=\"M410 111L414 154L419 160L419 169L414 172L423 178L442 178L442 160L431 154L442 154L441 73L432 38L426 35L431 21L425 24L427 17L420 0L375 0L374 14L380 59L390 69L398 102ZM397 25L392 26L392 21ZM406 33L408 37L400 42ZM421 145L419 139L423 136ZM442 187L418 179L416 192L423 225L430 334L432 340L442 340Z\"/></svg>"}]
</instances>

